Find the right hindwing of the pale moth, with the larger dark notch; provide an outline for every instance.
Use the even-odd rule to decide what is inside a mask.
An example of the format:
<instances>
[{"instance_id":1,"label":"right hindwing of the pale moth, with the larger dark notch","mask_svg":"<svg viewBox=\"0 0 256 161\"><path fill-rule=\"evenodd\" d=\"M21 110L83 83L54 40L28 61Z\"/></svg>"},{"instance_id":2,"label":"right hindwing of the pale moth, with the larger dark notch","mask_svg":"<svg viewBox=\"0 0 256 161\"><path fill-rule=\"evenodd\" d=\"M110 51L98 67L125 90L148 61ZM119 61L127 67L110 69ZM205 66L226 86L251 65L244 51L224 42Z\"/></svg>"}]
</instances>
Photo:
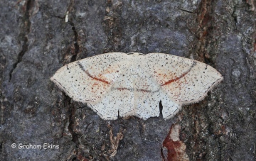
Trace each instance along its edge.
<instances>
[{"instance_id":1,"label":"right hindwing of the pale moth, with the larger dark notch","mask_svg":"<svg viewBox=\"0 0 256 161\"><path fill-rule=\"evenodd\" d=\"M140 65L143 64L143 61ZM146 120L149 117L159 116L159 102L163 105L164 119L171 118L181 108L172 101L166 91L161 89L158 82L151 77L144 67L139 67L137 75L133 75L135 115Z\"/></svg>"}]
</instances>

